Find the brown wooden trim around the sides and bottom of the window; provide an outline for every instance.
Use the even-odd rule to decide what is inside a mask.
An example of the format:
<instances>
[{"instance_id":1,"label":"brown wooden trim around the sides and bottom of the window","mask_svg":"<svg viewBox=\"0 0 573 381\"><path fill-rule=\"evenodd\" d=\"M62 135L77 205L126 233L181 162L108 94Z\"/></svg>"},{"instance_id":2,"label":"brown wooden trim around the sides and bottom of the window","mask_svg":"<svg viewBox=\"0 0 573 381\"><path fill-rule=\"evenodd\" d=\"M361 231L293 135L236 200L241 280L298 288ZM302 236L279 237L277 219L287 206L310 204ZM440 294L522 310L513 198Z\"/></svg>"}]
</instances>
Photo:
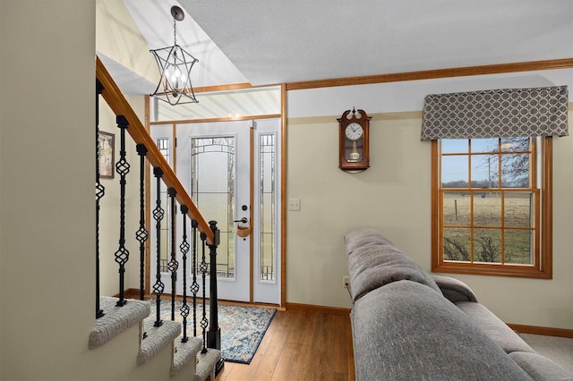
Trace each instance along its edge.
<instances>
[{"instance_id":1,"label":"brown wooden trim around the sides and bottom of the window","mask_svg":"<svg viewBox=\"0 0 573 381\"><path fill-rule=\"evenodd\" d=\"M539 228L536 235L541 235L539 248L541 254L537 256L537 266L500 265L483 263L455 263L447 262L440 252L441 210L440 210L440 149L439 141L432 140L432 272L470 275L513 276L537 279L552 279L552 163L553 145L552 137L542 137L542 179L541 208ZM541 263L539 263L539 261Z\"/></svg>"}]
</instances>

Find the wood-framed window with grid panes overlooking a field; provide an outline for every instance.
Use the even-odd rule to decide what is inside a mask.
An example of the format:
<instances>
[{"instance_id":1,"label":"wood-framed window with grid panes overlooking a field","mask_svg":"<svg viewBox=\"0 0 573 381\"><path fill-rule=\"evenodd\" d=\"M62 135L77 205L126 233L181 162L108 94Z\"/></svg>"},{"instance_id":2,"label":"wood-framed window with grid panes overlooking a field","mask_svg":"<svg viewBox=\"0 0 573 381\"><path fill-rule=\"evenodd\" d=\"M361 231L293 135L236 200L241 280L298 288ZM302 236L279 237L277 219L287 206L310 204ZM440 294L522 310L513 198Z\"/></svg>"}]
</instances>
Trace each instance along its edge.
<instances>
[{"instance_id":1,"label":"wood-framed window with grid panes overlooking a field","mask_svg":"<svg viewBox=\"0 0 573 381\"><path fill-rule=\"evenodd\" d=\"M432 271L552 277L552 138L432 140Z\"/></svg>"}]
</instances>

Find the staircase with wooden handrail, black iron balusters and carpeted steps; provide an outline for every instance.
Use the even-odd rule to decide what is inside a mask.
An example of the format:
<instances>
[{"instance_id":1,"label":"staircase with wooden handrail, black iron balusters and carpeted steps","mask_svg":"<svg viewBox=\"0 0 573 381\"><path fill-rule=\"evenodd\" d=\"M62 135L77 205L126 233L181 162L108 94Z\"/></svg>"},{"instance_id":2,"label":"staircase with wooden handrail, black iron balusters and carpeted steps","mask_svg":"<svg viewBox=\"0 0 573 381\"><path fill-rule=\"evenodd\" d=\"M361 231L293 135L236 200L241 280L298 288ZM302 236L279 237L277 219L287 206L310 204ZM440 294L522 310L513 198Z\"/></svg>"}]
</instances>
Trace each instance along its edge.
<instances>
[{"instance_id":1,"label":"staircase with wooden handrail, black iron balusters and carpeted steps","mask_svg":"<svg viewBox=\"0 0 573 381\"><path fill-rule=\"evenodd\" d=\"M96 163L96 235L97 235L97 253L96 253L96 266L97 266L97 284L96 284L96 324L95 327L90 332L88 347L91 351L105 351L106 347L112 346L131 346L131 343L124 343L128 340L138 340L138 350L129 353L127 351L122 351L122 361L128 364L134 359L136 365L132 368L135 370L126 370L129 372L125 379L138 379L138 374L144 374L146 372L146 367L153 367L154 371L157 368L165 367L165 373L158 370L160 374L165 375L165 379L176 378L176 379L193 379L193 380L205 380L210 377L211 380L215 380L216 374L223 367L224 361L221 359L220 351L220 329L218 328L218 305L217 305L217 276L216 276L216 256L217 256L217 246L218 246L218 229L217 223L210 221L207 224L201 216L201 213L195 207L192 199L184 190L184 187L178 181L175 173L172 171L171 167L167 164L166 159L163 157L161 152L158 150L155 142L151 139L149 133L145 130L141 124L137 115L133 112L132 107L125 100L121 91L115 85L115 81L111 78L103 63L97 58L96 63L96 82L97 82L97 101L96 101L96 138L98 138L98 112L99 112L99 96L101 95L107 105L112 109L116 115L117 127L120 129L120 157L115 163L115 171L119 177L119 184L121 187L121 197L120 197L120 222L119 222L119 248L115 252L115 262L119 267L119 293L118 297L109 297L99 295L99 200L104 197L105 189L99 182L99 170L98 170L98 159ZM130 171L131 165L126 162L125 159L125 144L126 144L126 134L128 132L131 136L133 142L137 145L137 152L141 158L140 164L140 205L141 205L141 220L140 229L133 234L137 237L137 241L140 241L140 267L141 267L141 289L140 289L140 300L126 299L124 297L124 272L125 264L129 259L129 251L125 248L125 175ZM117 143L116 143L117 144ZM98 157L98 143L96 143L96 154ZM160 183L164 183L167 186L171 210L170 215L172 216L171 224L175 224L175 203L179 204L181 208L181 215L184 218L184 226L186 226L186 220L191 220L191 234L192 247L187 243L187 233L184 232L183 243L180 245L179 250L175 248L175 237L171 237L172 247L171 247L171 258L167 267L171 271L171 276L173 280L173 285L175 285L176 272L179 267L180 261L183 262L184 269L191 268L187 265L187 252L192 249L192 260L194 263L199 263L201 260L201 265L198 266L199 270L197 275L202 277L203 287L205 290L206 276L210 274L210 295L197 295L200 287L198 286L195 279L197 276L193 274L193 284L189 289L192 292L190 298L192 297L192 302L194 303L197 298L202 298L202 300L209 299L210 302L210 319L205 317L205 307L203 303L203 318L200 322L192 321L191 324L194 325L193 332L196 332L197 326L201 326L202 333L196 337L187 337L182 323L175 322L171 320L164 320L161 318L160 314L160 301L163 297L164 284L160 279L160 270L158 268L158 277L155 280L155 284L152 284L152 292L155 294L157 310L155 311L155 316L151 313L151 303L144 300L144 268L145 268L145 242L148 240L150 234L147 231L145 216L147 216L144 210L144 190L145 181L144 174L145 168L151 165L153 167L154 180L150 180L151 183L157 182L158 186ZM159 194L159 191L157 192ZM156 229L160 228L160 222L165 214L161 206L161 201L158 199L156 203L156 208L152 211L153 218L156 221ZM149 212L149 211L148 211ZM149 224L149 223L148 223ZM186 228L184 227L186 231ZM175 232L172 228L171 232ZM160 234L157 234L159 237ZM202 241L202 253L198 254L196 252L195 241L197 237L201 237ZM158 239L159 240L159 239ZM157 240L157 241L158 241ZM209 261L207 263L207 256L205 252L205 247L209 247ZM179 256L179 253L181 256ZM159 243L157 244L157 261L159 267ZM210 266L212 265L212 266ZM193 271L197 271L195 266L192 266ZM199 273L201 272L201 273ZM187 305L187 286L184 285L183 294L183 306L181 309L181 315L184 319L183 326L187 326L187 316L189 311L193 310L193 317L195 316L196 309L201 309L201 306L192 304L192 306ZM171 294L172 301L175 301L175 286L172 287ZM171 311L172 316L175 311ZM209 326L209 330L207 327ZM125 334L124 334L125 333ZM135 339L135 337L138 339ZM131 350L130 350L131 351ZM168 360L166 360L168 359ZM164 364L158 364L158 362L164 362ZM153 365L150 365L153 363ZM129 368L129 367L128 367ZM122 371L123 372L123 371ZM118 372L119 373L119 372ZM115 375L120 379L121 375ZM147 378L147 377L146 377Z\"/></svg>"}]
</instances>

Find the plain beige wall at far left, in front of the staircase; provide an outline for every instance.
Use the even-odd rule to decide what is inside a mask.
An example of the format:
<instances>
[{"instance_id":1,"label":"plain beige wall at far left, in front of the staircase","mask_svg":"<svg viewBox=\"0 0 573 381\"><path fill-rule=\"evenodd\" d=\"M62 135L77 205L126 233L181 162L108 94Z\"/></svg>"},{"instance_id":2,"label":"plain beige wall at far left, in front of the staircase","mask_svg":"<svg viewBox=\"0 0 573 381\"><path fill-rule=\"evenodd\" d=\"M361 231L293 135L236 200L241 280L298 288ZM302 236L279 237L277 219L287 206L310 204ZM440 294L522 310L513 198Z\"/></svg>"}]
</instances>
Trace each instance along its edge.
<instances>
[{"instance_id":1,"label":"plain beige wall at far left, in front of the staircase","mask_svg":"<svg viewBox=\"0 0 573 381\"><path fill-rule=\"evenodd\" d=\"M94 1L0 2L2 379L69 379L87 351L94 53Z\"/></svg>"}]
</instances>

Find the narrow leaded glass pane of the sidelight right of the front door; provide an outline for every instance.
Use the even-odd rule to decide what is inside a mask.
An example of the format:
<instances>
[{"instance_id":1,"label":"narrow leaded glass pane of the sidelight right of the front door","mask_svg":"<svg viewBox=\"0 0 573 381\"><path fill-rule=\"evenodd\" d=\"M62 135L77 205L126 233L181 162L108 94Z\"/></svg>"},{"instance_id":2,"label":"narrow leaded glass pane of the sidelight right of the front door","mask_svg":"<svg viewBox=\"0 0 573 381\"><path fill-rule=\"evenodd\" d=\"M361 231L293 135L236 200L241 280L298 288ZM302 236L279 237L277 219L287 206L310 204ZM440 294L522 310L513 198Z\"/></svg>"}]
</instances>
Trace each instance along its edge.
<instances>
[{"instance_id":1,"label":"narrow leaded glass pane of the sidelight right of the front door","mask_svg":"<svg viewBox=\"0 0 573 381\"><path fill-rule=\"evenodd\" d=\"M261 281L275 280L275 174L276 143L274 134L261 134Z\"/></svg>"}]
</instances>

